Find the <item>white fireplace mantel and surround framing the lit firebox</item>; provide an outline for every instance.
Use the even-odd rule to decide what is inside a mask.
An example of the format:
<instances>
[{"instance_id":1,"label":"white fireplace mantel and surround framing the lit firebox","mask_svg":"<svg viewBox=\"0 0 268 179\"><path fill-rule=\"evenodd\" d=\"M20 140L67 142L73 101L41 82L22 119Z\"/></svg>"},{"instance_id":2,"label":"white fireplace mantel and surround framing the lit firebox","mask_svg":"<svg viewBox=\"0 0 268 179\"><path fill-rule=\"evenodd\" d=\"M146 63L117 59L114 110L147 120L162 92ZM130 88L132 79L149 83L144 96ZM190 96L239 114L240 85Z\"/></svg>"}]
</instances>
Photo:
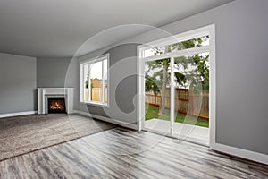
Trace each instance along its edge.
<instances>
[{"instance_id":1,"label":"white fireplace mantel and surround framing the lit firebox","mask_svg":"<svg viewBox=\"0 0 268 179\"><path fill-rule=\"evenodd\" d=\"M38 88L38 114L47 113L47 98L64 97L66 112L73 112L73 88Z\"/></svg>"}]
</instances>

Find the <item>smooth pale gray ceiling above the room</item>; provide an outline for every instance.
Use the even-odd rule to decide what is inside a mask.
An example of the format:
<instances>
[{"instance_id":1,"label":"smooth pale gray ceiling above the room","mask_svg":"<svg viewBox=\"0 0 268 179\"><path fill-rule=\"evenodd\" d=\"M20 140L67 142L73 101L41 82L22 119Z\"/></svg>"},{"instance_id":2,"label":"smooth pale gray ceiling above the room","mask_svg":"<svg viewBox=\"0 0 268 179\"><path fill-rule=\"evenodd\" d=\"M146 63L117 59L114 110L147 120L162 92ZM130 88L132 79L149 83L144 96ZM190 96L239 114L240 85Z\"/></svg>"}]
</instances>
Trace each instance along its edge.
<instances>
[{"instance_id":1,"label":"smooth pale gray ceiling above the room","mask_svg":"<svg viewBox=\"0 0 268 179\"><path fill-rule=\"evenodd\" d=\"M0 0L0 52L72 56L88 38L102 30L126 24L159 27L230 1ZM112 36L95 40L86 51L112 45L147 28L115 30Z\"/></svg>"}]
</instances>

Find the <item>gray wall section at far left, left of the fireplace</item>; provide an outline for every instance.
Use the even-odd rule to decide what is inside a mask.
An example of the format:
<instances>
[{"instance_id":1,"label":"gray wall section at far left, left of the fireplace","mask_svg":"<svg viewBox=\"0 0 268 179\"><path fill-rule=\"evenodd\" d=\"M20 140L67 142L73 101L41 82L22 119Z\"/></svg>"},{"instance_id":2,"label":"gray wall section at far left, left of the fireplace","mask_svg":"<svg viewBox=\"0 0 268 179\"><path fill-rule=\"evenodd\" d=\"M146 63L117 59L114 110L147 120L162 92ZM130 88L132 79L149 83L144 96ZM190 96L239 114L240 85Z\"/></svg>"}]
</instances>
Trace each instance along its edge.
<instances>
[{"instance_id":1,"label":"gray wall section at far left, left of the fireplace","mask_svg":"<svg viewBox=\"0 0 268 179\"><path fill-rule=\"evenodd\" d=\"M0 53L0 114L37 110L36 58Z\"/></svg>"}]
</instances>

